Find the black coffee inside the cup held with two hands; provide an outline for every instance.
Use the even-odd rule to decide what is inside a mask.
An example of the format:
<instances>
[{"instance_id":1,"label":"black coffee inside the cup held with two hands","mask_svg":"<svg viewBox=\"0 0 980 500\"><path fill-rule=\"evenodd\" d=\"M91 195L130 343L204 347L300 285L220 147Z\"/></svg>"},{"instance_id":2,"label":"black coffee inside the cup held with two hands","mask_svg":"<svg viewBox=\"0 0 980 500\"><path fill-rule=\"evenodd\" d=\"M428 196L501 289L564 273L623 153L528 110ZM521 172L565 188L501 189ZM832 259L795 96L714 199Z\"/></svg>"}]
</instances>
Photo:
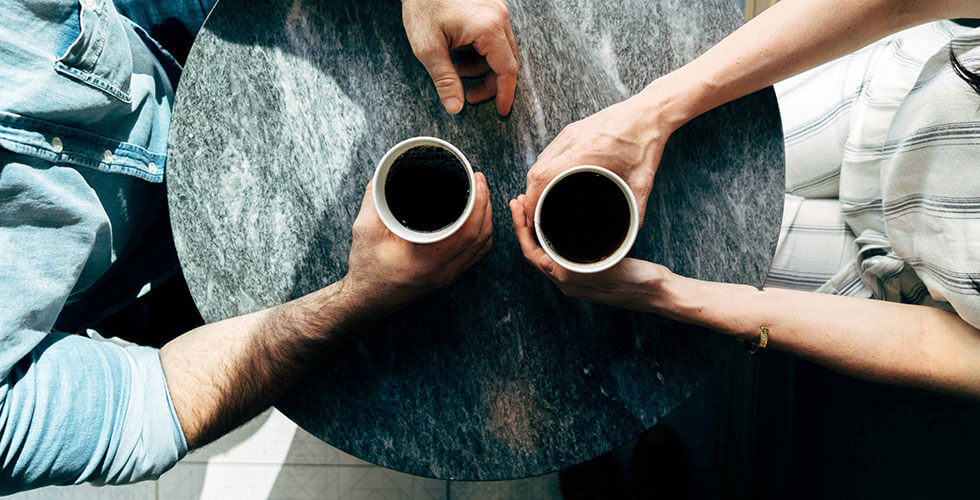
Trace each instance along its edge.
<instances>
[{"instance_id":1,"label":"black coffee inside the cup held with two hands","mask_svg":"<svg viewBox=\"0 0 980 500\"><path fill-rule=\"evenodd\" d=\"M580 264L609 257L626 239L629 201L608 177L577 172L551 187L541 204L541 232L558 255Z\"/></svg>"}]
</instances>

